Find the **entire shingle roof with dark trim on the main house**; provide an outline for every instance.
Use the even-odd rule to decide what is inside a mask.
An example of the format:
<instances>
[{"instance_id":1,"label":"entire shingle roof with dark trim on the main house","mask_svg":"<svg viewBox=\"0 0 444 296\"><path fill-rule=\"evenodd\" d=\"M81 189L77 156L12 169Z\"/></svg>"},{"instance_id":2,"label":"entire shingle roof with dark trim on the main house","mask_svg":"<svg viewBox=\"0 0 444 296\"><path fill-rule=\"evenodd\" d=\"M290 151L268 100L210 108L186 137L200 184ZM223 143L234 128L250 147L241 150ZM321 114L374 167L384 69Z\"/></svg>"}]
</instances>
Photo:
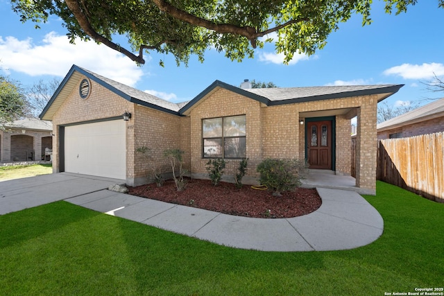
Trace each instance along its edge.
<instances>
[{"instance_id":1,"label":"entire shingle roof with dark trim on the main house","mask_svg":"<svg viewBox=\"0 0 444 296\"><path fill-rule=\"evenodd\" d=\"M53 114L58 110L58 107L69 96L70 90L78 83L78 79L85 75L89 79L94 80L103 87L110 89L111 92L122 96L127 101L151 107L155 110L168 112L175 115L184 115L202 98L210 94L217 87L228 89L237 94L241 94L253 100L259 101L266 105L281 105L300 103L306 101L318 101L327 100L332 98L347 98L352 96L366 96L372 94L386 94L390 96L395 92L398 92L402 85L352 85L352 86L327 86L327 87L290 87L290 88L265 88L265 89L241 89L228 85L225 82L216 80L207 87L203 92L198 94L193 100L183 103L171 103L165 101L162 98L157 98L152 94L142 92L139 89L129 87L123 83L114 81L110 78L106 78L97 73L83 69L76 65L73 65L69 70L69 73L62 81L58 90L49 101L48 105L44 108L40 118L52 119ZM66 89L65 89L66 88ZM379 100L384 99L386 96L380 96Z\"/></svg>"}]
</instances>

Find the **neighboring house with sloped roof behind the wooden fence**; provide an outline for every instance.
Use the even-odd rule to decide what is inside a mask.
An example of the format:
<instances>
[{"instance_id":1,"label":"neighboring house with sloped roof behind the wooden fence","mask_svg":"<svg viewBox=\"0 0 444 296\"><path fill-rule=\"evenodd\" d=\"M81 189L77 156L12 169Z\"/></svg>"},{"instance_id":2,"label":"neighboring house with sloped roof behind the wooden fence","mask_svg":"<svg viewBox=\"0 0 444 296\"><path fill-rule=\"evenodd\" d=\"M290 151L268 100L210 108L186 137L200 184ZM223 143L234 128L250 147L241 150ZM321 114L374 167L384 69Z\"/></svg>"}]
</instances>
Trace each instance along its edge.
<instances>
[{"instance_id":1,"label":"neighboring house with sloped roof behind the wooden fence","mask_svg":"<svg viewBox=\"0 0 444 296\"><path fill-rule=\"evenodd\" d=\"M377 125L377 139L405 138L444 132L444 98Z\"/></svg>"}]
</instances>

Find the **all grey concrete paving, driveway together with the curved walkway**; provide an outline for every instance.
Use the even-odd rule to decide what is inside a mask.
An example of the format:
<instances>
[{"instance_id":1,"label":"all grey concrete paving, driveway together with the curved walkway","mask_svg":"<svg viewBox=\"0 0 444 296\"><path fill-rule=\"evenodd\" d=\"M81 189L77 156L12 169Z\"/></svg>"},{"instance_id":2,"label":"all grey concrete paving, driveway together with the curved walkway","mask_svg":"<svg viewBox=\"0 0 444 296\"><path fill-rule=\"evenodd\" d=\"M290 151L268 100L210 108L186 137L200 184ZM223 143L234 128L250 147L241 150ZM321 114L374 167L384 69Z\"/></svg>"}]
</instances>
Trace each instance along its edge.
<instances>
[{"instance_id":1,"label":"all grey concrete paving, driveway together with the curved walkway","mask_svg":"<svg viewBox=\"0 0 444 296\"><path fill-rule=\"evenodd\" d=\"M275 252L352 249L377 240L384 229L379 213L354 191L318 188L323 203L317 211L296 218L266 219L231 216L105 190L121 180L66 173L49 176L27 178L25 188L19 180L0 182L0 214L66 200L219 245Z\"/></svg>"}]
</instances>

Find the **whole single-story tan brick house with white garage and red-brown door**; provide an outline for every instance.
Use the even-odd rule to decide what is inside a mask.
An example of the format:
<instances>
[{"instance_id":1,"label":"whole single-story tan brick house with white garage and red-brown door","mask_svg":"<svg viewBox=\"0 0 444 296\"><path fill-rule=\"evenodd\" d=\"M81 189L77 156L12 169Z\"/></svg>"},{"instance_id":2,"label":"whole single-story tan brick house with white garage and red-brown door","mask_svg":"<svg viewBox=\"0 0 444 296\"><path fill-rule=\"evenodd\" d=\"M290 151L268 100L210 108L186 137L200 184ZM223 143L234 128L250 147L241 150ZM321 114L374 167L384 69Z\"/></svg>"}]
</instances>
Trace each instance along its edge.
<instances>
[{"instance_id":1,"label":"whole single-story tan brick house with white garage and red-brown door","mask_svg":"<svg viewBox=\"0 0 444 296\"><path fill-rule=\"evenodd\" d=\"M207 178L210 157L234 175L248 157L244 183L257 183L267 157L307 158L311 168L350 175L350 119L357 116L356 186L375 194L377 102L402 85L242 89L216 80L175 104L74 65L40 118L53 122L53 171L147 182L141 146L171 173L166 149L185 152L191 177ZM123 114L130 115L128 121Z\"/></svg>"}]
</instances>

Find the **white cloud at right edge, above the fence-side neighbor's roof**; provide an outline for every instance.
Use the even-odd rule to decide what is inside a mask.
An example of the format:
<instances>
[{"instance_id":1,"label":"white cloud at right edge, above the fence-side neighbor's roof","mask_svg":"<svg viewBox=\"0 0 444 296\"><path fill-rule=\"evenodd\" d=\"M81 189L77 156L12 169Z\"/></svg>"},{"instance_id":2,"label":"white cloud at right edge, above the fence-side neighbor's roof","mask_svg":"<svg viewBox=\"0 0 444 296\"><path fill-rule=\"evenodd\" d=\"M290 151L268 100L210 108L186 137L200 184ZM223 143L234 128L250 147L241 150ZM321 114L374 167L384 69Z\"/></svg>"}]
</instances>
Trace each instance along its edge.
<instances>
[{"instance_id":1,"label":"white cloud at right edge, above the fence-side neighbor's roof","mask_svg":"<svg viewBox=\"0 0 444 296\"><path fill-rule=\"evenodd\" d=\"M428 79L444 75L444 64L432 62L430 64L402 64L386 69L384 75L401 76L404 79Z\"/></svg>"}]
</instances>

